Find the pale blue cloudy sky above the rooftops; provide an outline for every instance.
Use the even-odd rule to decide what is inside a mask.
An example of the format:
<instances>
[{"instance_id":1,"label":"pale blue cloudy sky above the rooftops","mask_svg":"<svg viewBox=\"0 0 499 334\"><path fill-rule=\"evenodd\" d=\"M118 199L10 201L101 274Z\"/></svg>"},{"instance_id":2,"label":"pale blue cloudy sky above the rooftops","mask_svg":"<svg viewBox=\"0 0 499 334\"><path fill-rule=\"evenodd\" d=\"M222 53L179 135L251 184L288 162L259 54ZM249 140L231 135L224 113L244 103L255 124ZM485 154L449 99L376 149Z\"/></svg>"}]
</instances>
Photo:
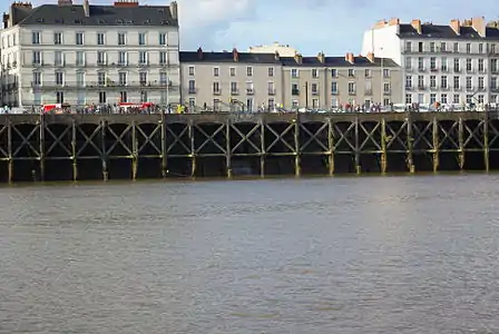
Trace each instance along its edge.
<instances>
[{"instance_id":1,"label":"pale blue cloudy sky above the rooftops","mask_svg":"<svg viewBox=\"0 0 499 334\"><path fill-rule=\"evenodd\" d=\"M32 0L31 0L32 1ZM110 4L111 0L89 0ZM8 1L0 0L8 10ZM57 3L35 0L33 4ZM82 0L74 0L80 4ZM140 4L169 1L139 0ZM376 21L400 18L448 23L451 19L486 16L499 20L497 0L177 0L180 17L180 48L206 51L247 50L251 46L277 41L304 56L323 51L340 56L361 51L363 32Z\"/></svg>"}]
</instances>

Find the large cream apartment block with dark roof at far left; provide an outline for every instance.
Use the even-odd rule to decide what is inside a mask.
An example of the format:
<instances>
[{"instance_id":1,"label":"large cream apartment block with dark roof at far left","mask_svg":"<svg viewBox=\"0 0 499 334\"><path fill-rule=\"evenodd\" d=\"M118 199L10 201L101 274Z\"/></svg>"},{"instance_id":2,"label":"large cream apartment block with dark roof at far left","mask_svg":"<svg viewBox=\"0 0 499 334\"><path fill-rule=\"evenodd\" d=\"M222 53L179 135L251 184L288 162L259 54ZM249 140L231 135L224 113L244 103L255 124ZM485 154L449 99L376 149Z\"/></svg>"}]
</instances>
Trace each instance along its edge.
<instances>
[{"instance_id":1,"label":"large cream apartment block with dark roof at far left","mask_svg":"<svg viewBox=\"0 0 499 334\"><path fill-rule=\"evenodd\" d=\"M0 42L4 102L13 107L180 101L176 2L14 2Z\"/></svg>"}]
</instances>

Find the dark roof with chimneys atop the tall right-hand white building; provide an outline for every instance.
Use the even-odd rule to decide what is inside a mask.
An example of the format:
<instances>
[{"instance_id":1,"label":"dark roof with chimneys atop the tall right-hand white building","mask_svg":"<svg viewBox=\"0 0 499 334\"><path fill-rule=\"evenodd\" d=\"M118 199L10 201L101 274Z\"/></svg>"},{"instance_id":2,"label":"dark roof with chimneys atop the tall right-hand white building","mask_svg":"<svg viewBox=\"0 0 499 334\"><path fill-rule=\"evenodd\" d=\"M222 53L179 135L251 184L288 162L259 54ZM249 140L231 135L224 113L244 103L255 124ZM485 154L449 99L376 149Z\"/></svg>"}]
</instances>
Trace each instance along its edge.
<instances>
[{"instance_id":1,"label":"dark roof with chimneys atop the tall right-hand white building","mask_svg":"<svg viewBox=\"0 0 499 334\"><path fill-rule=\"evenodd\" d=\"M409 23L400 24L399 36L401 38L434 38L434 39L482 39L499 40L499 29L486 28L486 37L480 37L472 27L460 27L459 35L450 26L421 24L421 35Z\"/></svg>"}]
</instances>

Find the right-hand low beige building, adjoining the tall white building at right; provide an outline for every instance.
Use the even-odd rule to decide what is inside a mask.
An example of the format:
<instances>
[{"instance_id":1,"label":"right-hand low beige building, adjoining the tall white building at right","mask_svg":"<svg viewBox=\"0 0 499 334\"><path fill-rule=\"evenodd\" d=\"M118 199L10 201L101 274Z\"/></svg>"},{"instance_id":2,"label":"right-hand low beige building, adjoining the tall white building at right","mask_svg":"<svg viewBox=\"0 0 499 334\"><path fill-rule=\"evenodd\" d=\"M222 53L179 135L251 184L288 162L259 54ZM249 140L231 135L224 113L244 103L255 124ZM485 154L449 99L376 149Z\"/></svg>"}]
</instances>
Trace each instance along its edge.
<instances>
[{"instance_id":1,"label":"right-hand low beige building, adjoining the tall white building at right","mask_svg":"<svg viewBox=\"0 0 499 334\"><path fill-rule=\"evenodd\" d=\"M402 75L391 59L349 52L345 57L282 58L284 105L287 108L332 109L340 106L400 104Z\"/></svg>"}]
</instances>

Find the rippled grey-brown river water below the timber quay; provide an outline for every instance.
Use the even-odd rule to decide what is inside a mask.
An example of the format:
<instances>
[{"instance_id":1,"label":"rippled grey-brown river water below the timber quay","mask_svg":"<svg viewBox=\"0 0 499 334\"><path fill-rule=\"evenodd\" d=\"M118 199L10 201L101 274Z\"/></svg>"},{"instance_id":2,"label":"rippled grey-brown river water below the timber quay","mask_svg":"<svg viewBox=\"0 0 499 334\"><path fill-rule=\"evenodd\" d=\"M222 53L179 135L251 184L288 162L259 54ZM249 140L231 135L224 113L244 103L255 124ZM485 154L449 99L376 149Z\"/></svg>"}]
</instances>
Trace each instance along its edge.
<instances>
[{"instance_id":1,"label":"rippled grey-brown river water below the timber quay","mask_svg":"<svg viewBox=\"0 0 499 334\"><path fill-rule=\"evenodd\" d=\"M0 189L0 333L499 333L499 177Z\"/></svg>"}]
</instances>

